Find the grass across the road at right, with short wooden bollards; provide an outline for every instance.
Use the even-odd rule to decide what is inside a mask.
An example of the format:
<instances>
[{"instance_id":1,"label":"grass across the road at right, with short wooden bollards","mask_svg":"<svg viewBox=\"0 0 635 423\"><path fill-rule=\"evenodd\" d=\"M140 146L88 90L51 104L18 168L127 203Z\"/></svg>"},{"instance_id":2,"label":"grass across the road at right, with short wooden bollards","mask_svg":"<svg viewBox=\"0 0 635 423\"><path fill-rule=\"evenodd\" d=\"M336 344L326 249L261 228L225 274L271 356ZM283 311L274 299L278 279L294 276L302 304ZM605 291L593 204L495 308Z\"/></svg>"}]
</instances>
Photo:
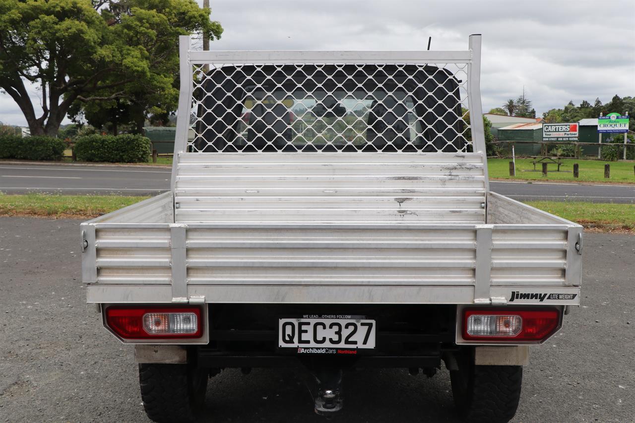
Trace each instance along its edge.
<instances>
[{"instance_id":1,"label":"grass across the road at right, with short wooden bollards","mask_svg":"<svg viewBox=\"0 0 635 423\"><path fill-rule=\"evenodd\" d=\"M537 163L533 171L533 159L516 159L516 176L509 176L509 162L512 159L488 159L490 178L509 180L558 180L569 182L620 182L635 184L634 161L602 161L584 159L562 159L562 166L549 164L547 176L542 176L542 164ZM578 163L580 177L573 177L573 163ZM611 165L611 177L604 177L604 165Z\"/></svg>"}]
</instances>

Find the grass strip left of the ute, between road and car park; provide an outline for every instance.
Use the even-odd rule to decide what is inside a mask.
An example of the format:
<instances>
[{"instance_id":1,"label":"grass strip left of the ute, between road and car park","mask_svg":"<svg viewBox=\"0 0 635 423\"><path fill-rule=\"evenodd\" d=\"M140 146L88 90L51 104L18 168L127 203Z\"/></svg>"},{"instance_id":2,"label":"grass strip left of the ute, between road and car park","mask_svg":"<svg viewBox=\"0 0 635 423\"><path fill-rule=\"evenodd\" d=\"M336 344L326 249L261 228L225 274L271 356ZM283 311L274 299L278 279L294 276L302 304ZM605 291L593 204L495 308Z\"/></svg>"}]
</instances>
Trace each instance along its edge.
<instances>
[{"instance_id":1,"label":"grass strip left of the ute, between road and car park","mask_svg":"<svg viewBox=\"0 0 635 423\"><path fill-rule=\"evenodd\" d=\"M0 215L39 217L97 217L148 197L64 196L0 193Z\"/></svg>"}]
</instances>

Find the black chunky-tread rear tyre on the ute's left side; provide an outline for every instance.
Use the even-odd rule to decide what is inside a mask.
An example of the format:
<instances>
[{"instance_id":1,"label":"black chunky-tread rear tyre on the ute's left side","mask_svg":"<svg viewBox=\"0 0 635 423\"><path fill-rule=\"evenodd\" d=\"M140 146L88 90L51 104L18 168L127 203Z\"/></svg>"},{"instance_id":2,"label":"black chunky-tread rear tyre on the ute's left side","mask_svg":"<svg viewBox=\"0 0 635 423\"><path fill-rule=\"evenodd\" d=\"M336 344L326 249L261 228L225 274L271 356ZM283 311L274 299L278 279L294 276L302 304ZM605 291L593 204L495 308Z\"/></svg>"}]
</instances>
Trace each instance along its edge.
<instances>
[{"instance_id":1,"label":"black chunky-tread rear tyre on the ute's left side","mask_svg":"<svg viewBox=\"0 0 635 423\"><path fill-rule=\"evenodd\" d=\"M188 365L140 364L145 413L157 423L195 422L204 409L207 375Z\"/></svg>"}]
</instances>

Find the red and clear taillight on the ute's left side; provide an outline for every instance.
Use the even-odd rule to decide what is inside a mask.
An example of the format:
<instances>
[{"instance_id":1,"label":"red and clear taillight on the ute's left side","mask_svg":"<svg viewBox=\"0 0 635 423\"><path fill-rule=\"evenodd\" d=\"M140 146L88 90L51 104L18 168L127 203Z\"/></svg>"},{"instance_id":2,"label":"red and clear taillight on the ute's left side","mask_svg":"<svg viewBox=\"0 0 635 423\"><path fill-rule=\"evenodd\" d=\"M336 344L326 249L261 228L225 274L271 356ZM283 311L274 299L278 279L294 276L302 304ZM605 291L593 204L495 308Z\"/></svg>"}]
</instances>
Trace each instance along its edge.
<instances>
[{"instance_id":1,"label":"red and clear taillight on the ute's left side","mask_svg":"<svg viewBox=\"0 0 635 423\"><path fill-rule=\"evenodd\" d=\"M199 307L109 307L106 325L123 339L200 338Z\"/></svg>"}]
</instances>

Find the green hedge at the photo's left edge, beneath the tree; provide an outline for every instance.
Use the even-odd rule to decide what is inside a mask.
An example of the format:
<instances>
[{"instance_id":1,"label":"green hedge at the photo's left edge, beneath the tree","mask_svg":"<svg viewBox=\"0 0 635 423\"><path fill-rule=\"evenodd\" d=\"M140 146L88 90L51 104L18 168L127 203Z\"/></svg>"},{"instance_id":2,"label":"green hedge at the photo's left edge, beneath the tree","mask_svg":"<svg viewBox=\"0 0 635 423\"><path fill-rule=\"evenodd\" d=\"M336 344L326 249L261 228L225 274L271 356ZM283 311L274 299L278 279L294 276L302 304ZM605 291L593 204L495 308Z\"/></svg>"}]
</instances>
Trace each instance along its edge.
<instances>
[{"instance_id":1,"label":"green hedge at the photo's left edge, beneath the tree","mask_svg":"<svg viewBox=\"0 0 635 423\"><path fill-rule=\"evenodd\" d=\"M0 136L0 159L60 160L66 144L53 137Z\"/></svg>"}]
</instances>

